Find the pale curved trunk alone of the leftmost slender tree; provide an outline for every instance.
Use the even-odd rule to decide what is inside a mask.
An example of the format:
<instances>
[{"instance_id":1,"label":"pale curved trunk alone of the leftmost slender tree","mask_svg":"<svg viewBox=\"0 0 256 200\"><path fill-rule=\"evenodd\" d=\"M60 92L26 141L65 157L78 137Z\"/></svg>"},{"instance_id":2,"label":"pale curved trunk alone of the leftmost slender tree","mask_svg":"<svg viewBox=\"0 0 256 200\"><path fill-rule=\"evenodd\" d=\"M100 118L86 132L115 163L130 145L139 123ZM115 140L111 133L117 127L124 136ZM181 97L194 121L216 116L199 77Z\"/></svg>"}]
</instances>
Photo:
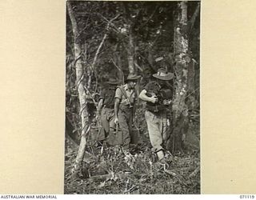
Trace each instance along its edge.
<instances>
[{"instance_id":1,"label":"pale curved trunk alone of the leftmost slender tree","mask_svg":"<svg viewBox=\"0 0 256 200\"><path fill-rule=\"evenodd\" d=\"M72 6L70 2L66 2L67 10L70 15L70 21L72 24L72 30L74 34L74 59L75 59L75 69L76 69L76 82L78 84L78 98L80 103L80 115L81 115L81 122L82 122L82 132L81 132L81 141L80 146L78 149L78 154L75 159L74 167L72 172L74 176L78 174L81 170L82 166L82 159L84 157L86 143L87 143L87 135L90 131L90 123L88 118L88 111L87 111L87 102L86 102L86 90L83 86L83 79L84 76L87 74L84 73L81 61L81 45L78 41L78 24L74 17L74 11L72 10Z\"/></svg>"}]
</instances>

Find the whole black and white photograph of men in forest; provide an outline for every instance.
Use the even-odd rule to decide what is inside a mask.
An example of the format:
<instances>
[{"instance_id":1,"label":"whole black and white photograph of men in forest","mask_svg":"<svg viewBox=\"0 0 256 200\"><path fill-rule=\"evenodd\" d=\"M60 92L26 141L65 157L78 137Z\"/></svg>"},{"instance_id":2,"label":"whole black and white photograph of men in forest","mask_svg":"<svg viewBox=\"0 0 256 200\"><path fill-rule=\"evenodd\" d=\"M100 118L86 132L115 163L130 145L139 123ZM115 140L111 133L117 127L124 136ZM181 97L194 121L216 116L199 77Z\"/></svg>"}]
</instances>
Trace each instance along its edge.
<instances>
[{"instance_id":1,"label":"whole black and white photograph of men in forest","mask_svg":"<svg viewBox=\"0 0 256 200\"><path fill-rule=\"evenodd\" d=\"M200 194L200 1L67 1L64 194Z\"/></svg>"}]
</instances>

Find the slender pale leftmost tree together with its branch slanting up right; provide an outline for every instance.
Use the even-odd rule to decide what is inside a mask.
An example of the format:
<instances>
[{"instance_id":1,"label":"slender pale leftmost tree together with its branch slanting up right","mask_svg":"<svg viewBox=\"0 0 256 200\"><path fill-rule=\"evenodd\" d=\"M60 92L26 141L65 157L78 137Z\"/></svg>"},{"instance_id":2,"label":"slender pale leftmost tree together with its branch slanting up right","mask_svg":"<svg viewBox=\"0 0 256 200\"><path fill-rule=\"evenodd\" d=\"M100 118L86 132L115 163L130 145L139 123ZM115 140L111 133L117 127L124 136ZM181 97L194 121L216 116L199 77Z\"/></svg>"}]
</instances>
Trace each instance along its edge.
<instances>
[{"instance_id":1,"label":"slender pale leftmost tree together with its branch slanting up right","mask_svg":"<svg viewBox=\"0 0 256 200\"><path fill-rule=\"evenodd\" d=\"M81 132L81 140L80 140L80 146L78 149L78 154L75 159L74 167L72 169L72 172L74 176L76 176L80 170L82 170L82 160L84 158L86 145L87 145L87 138L88 134L90 133L91 128L91 118L90 118L90 110L88 106L88 100L92 100L94 102L94 106L97 108L97 103L94 101L93 98L93 91L92 91L92 78L93 78L93 71L95 72L95 68L97 66L98 57L100 55L100 52L102 50L102 46L104 45L104 42L106 41L106 38L108 36L108 30L110 28L110 24L119 17L119 14L116 15L114 18L111 18L110 20L107 20L106 24L106 32L103 34L103 37L101 40L98 39L98 47L95 50L94 58L92 60L92 63L88 60L86 62L82 62L82 48L81 48L81 30L78 30L78 22L76 21L74 10L72 9L72 6L70 2L67 2L66 4L67 10L70 16L70 22L72 25L72 31L74 35L74 66L76 69L76 85L78 88L78 98L80 103L80 115L81 115L81 123L82 123L82 132ZM80 32L79 32L80 31ZM86 42L84 45L84 49L86 51ZM86 58L85 58L86 59ZM83 66L83 64L85 66ZM97 76L95 76L97 78Z\"/></svg>"}]
</instances>

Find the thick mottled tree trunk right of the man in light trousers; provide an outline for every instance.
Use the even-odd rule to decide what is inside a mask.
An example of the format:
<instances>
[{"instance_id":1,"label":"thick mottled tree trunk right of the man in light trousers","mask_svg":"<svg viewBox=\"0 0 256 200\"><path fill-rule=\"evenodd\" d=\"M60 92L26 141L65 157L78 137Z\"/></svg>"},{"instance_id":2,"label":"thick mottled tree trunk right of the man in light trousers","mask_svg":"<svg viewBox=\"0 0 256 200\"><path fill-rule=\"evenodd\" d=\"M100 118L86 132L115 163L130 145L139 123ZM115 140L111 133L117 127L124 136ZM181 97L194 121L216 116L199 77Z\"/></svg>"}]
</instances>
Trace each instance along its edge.
<instances>
[{"instance_id":1,"label":"thick mottled tree trunk right of the man in light trousers","mask_svg":"<svg viewBox=\"0 0 256 200\"><path fill-rule=\"evenodd\" d=\"M188 129L188 109L186 106L187 75L190 55L188 54L187 38L187 2L178 2L176 24L174 26L174 55L176 74L173 114L174 130L172 150L182 150L183 140Z\"/></svg>"}]
</instances>

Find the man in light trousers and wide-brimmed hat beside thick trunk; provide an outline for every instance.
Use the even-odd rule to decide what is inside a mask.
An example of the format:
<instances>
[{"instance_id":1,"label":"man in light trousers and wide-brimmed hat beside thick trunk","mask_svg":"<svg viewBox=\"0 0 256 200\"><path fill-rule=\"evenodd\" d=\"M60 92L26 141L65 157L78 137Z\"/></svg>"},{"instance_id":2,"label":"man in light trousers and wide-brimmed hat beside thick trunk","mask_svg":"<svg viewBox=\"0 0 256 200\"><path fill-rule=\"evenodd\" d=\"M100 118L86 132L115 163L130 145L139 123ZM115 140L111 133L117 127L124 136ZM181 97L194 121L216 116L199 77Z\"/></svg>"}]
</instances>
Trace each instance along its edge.
<instances>
[{"instance_id":1,"label":"man in light trousers and wide-brimmed hat beside thick trunk","mask_svg":"<svg viewBox=\"0 0 256 200\"><path fill-rule=\"evenodd\" d=\"M146 102L145 118L152 150L158 155L158 159L162 160L164 158L163 142L167 139L167 110L172 97L166 82L174 78L174 74L160 68L153 77L155 80L147 83L138 97Z\"/></svg>"}]
</instances>

